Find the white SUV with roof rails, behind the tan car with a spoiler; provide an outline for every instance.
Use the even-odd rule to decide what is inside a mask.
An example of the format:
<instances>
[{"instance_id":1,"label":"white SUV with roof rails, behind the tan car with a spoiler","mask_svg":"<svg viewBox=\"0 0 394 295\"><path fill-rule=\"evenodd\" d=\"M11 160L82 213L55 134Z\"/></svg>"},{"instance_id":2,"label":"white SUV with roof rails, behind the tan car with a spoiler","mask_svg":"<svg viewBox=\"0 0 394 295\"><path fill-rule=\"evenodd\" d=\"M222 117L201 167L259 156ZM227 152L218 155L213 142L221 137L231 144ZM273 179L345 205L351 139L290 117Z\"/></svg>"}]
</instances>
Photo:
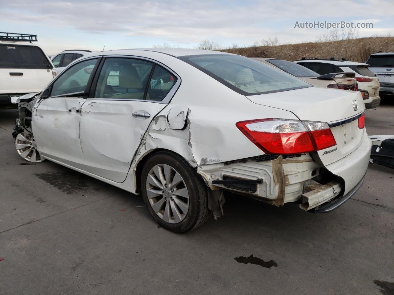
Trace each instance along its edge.
<instances>
[{"instance_id":1,"label":"white SUV with roof rails, behind the tan car with a spoiler","mask_svg":"<svg viewBox=\"0 0 394 295\"><path fill-rule=\"evenodd\" d=\"M365 108L372 109L380 104L379 79L368 69L368 65L365 63L356 63L346 59L337 60L333 57L331 59L307 59L303 57L299 61L294 61L294 63L303 65L320 75L353 72L356 75L358 91L361 92Z\"/></svg>"}]
</instances>

